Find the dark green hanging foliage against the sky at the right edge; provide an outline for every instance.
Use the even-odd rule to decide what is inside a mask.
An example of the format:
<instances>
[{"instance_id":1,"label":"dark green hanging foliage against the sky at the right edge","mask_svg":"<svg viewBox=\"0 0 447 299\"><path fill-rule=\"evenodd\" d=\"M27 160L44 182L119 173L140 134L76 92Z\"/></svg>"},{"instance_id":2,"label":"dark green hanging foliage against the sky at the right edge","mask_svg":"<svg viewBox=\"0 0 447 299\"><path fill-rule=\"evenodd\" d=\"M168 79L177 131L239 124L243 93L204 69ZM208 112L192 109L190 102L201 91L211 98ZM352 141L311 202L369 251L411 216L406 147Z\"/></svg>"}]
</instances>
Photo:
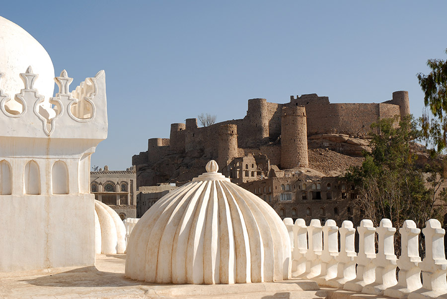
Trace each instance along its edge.
<instances>
[{"instance_id":1,"label":"dark green hanging foliage against the sky at the right edge","mask_svg":"<svg viewBox=\"0 0 447 299\"><path fill-rule=\"evenodd\" d=\"M421 127L427 144L440 152L447 147L447 60L429 59L427 66L432 70L429 75L417 74L426 106Z\"/></svg>"}]
</instances>

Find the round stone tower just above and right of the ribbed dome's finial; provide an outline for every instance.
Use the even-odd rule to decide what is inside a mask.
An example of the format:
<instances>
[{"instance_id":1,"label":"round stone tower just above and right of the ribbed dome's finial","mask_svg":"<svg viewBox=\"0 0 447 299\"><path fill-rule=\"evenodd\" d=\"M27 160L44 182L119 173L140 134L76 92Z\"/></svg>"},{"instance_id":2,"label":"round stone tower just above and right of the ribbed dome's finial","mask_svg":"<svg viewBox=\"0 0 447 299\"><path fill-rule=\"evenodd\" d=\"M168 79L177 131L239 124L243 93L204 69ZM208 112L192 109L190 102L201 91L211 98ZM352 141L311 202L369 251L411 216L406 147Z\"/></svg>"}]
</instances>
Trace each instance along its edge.
<instances>
[{"instance_id":1,"label":"round stone tower just above and right of the ribbed dome's finial","mask_svg":"<svg viewBox=\"0 0 447 299\"><path fill-rule=\"evenodd\" d=\"M219 128L219 165L223 169L237 157L237 125L222 125Z\"/></svg>"}]
</instances>

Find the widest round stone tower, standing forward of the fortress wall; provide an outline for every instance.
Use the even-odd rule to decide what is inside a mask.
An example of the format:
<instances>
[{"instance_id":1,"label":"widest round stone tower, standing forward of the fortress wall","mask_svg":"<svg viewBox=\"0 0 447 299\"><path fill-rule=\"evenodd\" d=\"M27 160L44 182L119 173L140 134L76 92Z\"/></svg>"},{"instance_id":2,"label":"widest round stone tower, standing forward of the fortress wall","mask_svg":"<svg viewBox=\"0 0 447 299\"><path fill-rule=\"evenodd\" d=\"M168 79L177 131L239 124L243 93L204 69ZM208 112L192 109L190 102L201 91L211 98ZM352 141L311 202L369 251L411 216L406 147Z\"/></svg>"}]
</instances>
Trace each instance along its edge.
<instances>
[{"instance_id":1,"label":"widest round stone tower, standing forward of the fortress wall","mask_svg":"<svg viewBox=\"0 0 447 299\"><path fill-rule=\"evenodd\" d=\"M283 107L281 116L281 168L308 167L306 108Z\"/></svg>"}]
</instances>

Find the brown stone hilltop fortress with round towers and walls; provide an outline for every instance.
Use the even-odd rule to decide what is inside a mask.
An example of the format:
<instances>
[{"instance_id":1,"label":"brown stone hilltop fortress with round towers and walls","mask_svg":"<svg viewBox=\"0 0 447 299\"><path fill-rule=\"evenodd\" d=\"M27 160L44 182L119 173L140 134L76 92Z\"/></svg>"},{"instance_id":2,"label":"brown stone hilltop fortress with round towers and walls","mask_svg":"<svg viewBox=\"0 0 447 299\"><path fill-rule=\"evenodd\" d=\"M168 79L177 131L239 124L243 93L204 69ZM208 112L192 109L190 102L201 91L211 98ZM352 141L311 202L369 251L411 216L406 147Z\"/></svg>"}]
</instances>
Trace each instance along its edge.
<instances>
[{"instance_id":1,"label":"brown stone hilltop fortress with round towers and walls","mask_svg":"<svg viewBox=\"0 0 447 299\"><path fill-rule=\"evenodd\" d=\"M395 91L381 103L330 103L315 93L291 96L285 104L249 99L243 119L208 127L198 127L196 118L171 124L170 138L149 139L148 150L134 155L132 163L138 186L186 182L209 159L242 183L275 176L280 169L308 167L308 149L360 156L368 149L373 122L409 113L407 91Z\"/></svg>"}]
</instances>

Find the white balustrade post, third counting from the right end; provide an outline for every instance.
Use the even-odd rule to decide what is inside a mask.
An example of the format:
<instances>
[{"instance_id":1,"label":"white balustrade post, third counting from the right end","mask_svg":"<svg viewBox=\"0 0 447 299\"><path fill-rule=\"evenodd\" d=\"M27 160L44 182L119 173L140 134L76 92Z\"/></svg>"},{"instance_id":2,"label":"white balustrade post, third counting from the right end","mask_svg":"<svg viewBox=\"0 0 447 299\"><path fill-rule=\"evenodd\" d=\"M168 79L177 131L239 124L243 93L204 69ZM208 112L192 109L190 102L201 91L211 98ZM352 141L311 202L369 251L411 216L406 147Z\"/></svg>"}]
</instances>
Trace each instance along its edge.
<instances>
[{"instance_id":1,"label":"white balustrade post, third counting from the right end","mask_svg":"<svg viewBox=\"0 0 447 299\"><path fill-rule=\"evenodd\" d=\"M394 254L394 233L391 220L382 219L377 227L378 252L374 260L375 282L363 288L362 293L383 295L383 292L397 284L397 256Z\"/></svg>"}]
</instances>

